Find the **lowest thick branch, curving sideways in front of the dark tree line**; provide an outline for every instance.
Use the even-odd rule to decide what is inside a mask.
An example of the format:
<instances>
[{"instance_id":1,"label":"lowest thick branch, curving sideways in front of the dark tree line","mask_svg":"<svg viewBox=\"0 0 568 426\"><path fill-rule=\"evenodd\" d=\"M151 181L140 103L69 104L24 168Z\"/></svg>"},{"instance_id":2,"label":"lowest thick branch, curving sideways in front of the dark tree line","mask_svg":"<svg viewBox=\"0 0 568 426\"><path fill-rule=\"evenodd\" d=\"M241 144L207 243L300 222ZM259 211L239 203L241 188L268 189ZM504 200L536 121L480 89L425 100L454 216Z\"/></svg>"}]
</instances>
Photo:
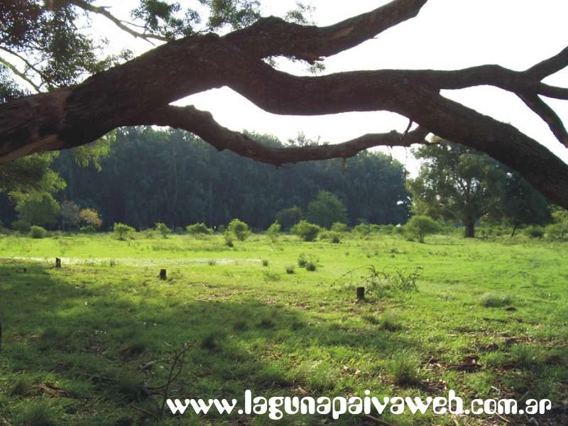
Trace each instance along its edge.
<instances>
[{"instance_id":1,"label":"lowest thick branch, curving sideways in front of the dark tree line","mask_svg":"<svg viewBox=\"0 0 568 426\"><path fill-rule=\"evenodd\" d=\"M302 146L276 148L254 141L238 131L221 126L206 111L195 107L174 107L172 105L153 111L149 116L141 116L129 123L132 126L154 124L184 129L200 136L217 150L228 149L244 157L262 163L283 165L310 160L329 160L329 158L349 158L373 146L410 146L413 143L427 143L426 129L417 129L405 134L374 133L360 136L344 143L322 146Z\"/></svg>"}]
</instances>

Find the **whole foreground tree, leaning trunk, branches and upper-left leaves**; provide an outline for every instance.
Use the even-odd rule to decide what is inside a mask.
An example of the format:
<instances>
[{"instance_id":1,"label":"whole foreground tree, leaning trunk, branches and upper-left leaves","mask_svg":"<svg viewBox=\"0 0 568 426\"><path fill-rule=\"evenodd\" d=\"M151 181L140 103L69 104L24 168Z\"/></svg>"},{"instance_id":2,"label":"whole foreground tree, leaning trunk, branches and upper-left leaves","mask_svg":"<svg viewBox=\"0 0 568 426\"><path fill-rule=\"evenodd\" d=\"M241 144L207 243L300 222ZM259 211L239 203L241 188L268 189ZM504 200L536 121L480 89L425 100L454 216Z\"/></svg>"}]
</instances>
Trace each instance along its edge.
<instances>
[{"instance_id":1,"label":"whole foreground tree, leaning trunk, branches and upper-left leaves","mask_svg":"<svg viewBox=\"0 0 568 426\"><path fill-rule=\"evenodd\" d=\"M143 0L133 11L136 25L131 26L89 0L0 2L0 71L11 80L26 80L38 92L0 105L0 161L84 145L132 125L185 129L219 150L274 165L349 158L378 145L410 146L425 143L427 134L434 133L491 155L568 207L568 165L513 126L442 94L480 85L504 89L516 94L568 146L562 121L541 98L568 99L567 88L542 82L568 65L568 48L523 71L481 65L300 77L276 70L271 59L283 56L317 64L417 16L428 1L393 0L327 27L261 18L255 0L200 3L209 6L207 19L195 10L182 10L178 3ZM136 58L129 52L102 58L97 55L101 46L80 29L77 18L84 13L99 14L128 33L163 44ZM222 86L275 114L393 111L418 127L368 134L339 145L278 148L225 129L206 111L171 104Z\"/></svg>"}]
</instances>

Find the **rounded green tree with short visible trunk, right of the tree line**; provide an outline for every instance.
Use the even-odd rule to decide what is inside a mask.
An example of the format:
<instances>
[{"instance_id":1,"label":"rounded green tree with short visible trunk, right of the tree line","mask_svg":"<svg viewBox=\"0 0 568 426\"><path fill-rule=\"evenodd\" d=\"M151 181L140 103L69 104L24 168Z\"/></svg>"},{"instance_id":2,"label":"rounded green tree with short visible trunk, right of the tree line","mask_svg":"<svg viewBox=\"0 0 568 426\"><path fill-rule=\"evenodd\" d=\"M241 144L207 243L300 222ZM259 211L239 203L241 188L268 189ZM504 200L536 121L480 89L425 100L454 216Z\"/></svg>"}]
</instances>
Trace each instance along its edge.
<instances>
[{"instance_id":1,"label":"rounded green tree with short visible trunk, right of the tree line","mask_svg":"<svg viewBox=\"0 0 568 426\"><path fill-rule=\"evenodd\" d=\"M417 213L454 219L465 226L464 237L474 237L475 223L499 202L503 168L449 141L417 148L415 156L423 160L420 175L409 182Z\"/></svg>"}]
</instances>

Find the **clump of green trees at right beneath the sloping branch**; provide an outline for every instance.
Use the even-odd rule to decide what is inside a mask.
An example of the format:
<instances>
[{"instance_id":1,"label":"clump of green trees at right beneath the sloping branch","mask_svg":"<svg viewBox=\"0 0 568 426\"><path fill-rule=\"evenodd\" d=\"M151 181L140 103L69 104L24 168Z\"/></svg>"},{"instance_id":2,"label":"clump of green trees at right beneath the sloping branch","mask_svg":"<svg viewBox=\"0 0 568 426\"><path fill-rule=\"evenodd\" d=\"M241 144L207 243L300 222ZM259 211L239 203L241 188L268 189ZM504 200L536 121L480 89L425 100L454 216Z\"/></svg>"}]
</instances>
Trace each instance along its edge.
<instances>
[{"instance_id":1,"label":"clump of green trees at right beneath the sloping branch","mask_svg":"<svg viewBox=\"0 0 568 426\"><path fill-rule=\"evenodd\" d=\"M486 215L514 226L550 218L542 195L484 153L435 139L415 155L423 160L420 174L409 181L415 212L460 222L466 237L475 235L476 222Z\"/></svg>"}]
</instances>

